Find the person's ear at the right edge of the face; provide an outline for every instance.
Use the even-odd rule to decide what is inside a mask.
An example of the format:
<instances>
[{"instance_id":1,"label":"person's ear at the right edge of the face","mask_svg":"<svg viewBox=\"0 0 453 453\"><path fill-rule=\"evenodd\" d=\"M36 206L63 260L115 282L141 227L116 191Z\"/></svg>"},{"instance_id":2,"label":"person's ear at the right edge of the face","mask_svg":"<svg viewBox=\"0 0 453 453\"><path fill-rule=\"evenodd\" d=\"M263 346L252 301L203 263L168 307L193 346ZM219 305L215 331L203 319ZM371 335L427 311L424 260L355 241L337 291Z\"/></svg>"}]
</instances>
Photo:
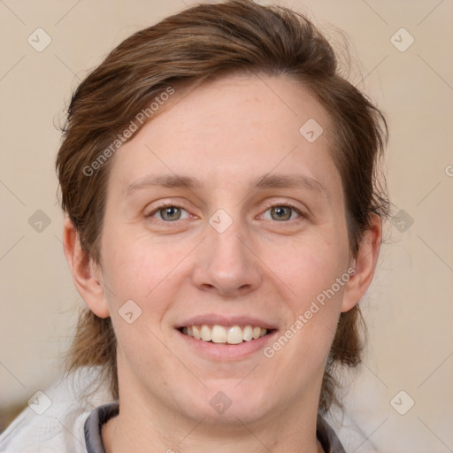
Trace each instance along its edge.
<instances>
[{"instance_id":1,"label":"person's ear at the right edge of the face","mask_svg":"<svg viewBox=\"0 0 453 453\"><path fill-rule=\"evenodd\" d=\"M356 273L349 278L345 285L342 311L351 310L365 295L372 282L381 242L382 219L377 214L372 213L370 225L360 242L357 257L351 263L351 266L356 269Z\"/></svg>"}]
</instances>

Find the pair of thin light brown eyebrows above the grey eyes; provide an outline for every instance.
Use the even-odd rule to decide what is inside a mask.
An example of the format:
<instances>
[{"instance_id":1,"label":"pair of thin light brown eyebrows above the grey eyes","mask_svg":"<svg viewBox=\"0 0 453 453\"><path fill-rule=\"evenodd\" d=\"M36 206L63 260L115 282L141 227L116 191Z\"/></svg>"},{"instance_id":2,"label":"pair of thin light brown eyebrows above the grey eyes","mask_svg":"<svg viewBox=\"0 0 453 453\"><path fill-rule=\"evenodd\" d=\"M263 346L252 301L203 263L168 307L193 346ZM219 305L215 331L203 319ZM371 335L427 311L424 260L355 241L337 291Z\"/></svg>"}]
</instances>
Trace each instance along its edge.
<instances>
[{"instance_id":1,"label":"pair of thin light brown eyebrows above the grey eyes","mask_svg":"<svg viewBox=\"0 0 453 453\"><path fill-rule=\"evenodd\" d=\"M155 174L144 176L134 181L124 191L124 196L131 196L136 190L144 188L203 188L198 178L178 174ZM249 189L265 188L305 188L319 196L328 197L326 188L318 181L305 174L265 174L250 182Z\"/></svg>"}]
</instances>

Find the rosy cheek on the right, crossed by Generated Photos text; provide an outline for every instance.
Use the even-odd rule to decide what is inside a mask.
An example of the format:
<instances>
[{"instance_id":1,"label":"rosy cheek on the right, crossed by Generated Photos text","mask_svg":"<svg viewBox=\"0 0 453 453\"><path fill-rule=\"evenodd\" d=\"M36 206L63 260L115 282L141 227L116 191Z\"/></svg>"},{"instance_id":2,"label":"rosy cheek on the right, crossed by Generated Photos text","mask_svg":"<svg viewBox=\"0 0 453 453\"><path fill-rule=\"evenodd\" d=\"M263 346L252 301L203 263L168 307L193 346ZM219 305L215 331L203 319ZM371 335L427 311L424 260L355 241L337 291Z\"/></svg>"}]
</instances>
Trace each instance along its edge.
<instances>
[{"instance_id":1,"label":"rosy cheek on the right, crossed by Generated Photos text","mask_svg":"<svg viewBox=\"0 0 453 453\"><path fill-rule=\"evenodd\" d=\"M267 352L279 355L282 366L292 367L296 373L303 373L307 366L324 366L349 277L347 256L345 243L319 234L307 234L303 240L293 242L290 250L280 249L273 255L273 269L283 282L280 288L285 292L290 315L286 329Z\"/></svg>"}]
</instances>

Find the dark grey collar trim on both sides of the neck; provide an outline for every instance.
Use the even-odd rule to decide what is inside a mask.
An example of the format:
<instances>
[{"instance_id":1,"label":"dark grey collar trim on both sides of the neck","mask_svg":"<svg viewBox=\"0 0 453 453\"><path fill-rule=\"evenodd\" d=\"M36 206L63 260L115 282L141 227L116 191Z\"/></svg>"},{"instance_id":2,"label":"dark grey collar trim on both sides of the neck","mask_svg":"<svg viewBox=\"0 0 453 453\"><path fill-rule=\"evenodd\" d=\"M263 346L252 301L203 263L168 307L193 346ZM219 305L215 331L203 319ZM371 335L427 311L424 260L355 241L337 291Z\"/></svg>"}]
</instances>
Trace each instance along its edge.
<instances>
[{"instance_id":1,"label":"dark grey collar trim on both sides of the neck","mask_svg":"<svg viewBox=\"0 0 453 453\"><path fill-rule=\"evenodd\" d=\"M105 453L101 429L109 418L119 414L119 403L107 403L97 407L85 422L85 442L87 453ZM346 453L332 426L318 415L316 436L326 453Z\"/></svg>"}]
</instances>

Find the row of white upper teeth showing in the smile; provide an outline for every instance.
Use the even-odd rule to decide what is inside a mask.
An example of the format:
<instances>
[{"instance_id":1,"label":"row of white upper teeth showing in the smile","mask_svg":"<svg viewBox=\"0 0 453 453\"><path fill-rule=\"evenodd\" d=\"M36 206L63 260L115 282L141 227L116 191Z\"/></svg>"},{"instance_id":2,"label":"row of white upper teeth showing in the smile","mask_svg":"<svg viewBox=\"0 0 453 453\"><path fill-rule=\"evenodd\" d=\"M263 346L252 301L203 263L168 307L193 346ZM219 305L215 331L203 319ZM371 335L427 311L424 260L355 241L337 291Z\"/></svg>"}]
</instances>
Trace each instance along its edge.
<instances>
[{"instance_id":1,"label":"row of white upper teeth showing in the smile","mask_svg":"<svg viewBox=\"0 0 453 453\"><path fill-rule=\"evenodd\" d=\"M267 330L264 327L255 326L187 326L182 329L183 334L192 336L204 342L239 344L250 342L260 336L265 336Z\"/></svg>"}]
</instances>

